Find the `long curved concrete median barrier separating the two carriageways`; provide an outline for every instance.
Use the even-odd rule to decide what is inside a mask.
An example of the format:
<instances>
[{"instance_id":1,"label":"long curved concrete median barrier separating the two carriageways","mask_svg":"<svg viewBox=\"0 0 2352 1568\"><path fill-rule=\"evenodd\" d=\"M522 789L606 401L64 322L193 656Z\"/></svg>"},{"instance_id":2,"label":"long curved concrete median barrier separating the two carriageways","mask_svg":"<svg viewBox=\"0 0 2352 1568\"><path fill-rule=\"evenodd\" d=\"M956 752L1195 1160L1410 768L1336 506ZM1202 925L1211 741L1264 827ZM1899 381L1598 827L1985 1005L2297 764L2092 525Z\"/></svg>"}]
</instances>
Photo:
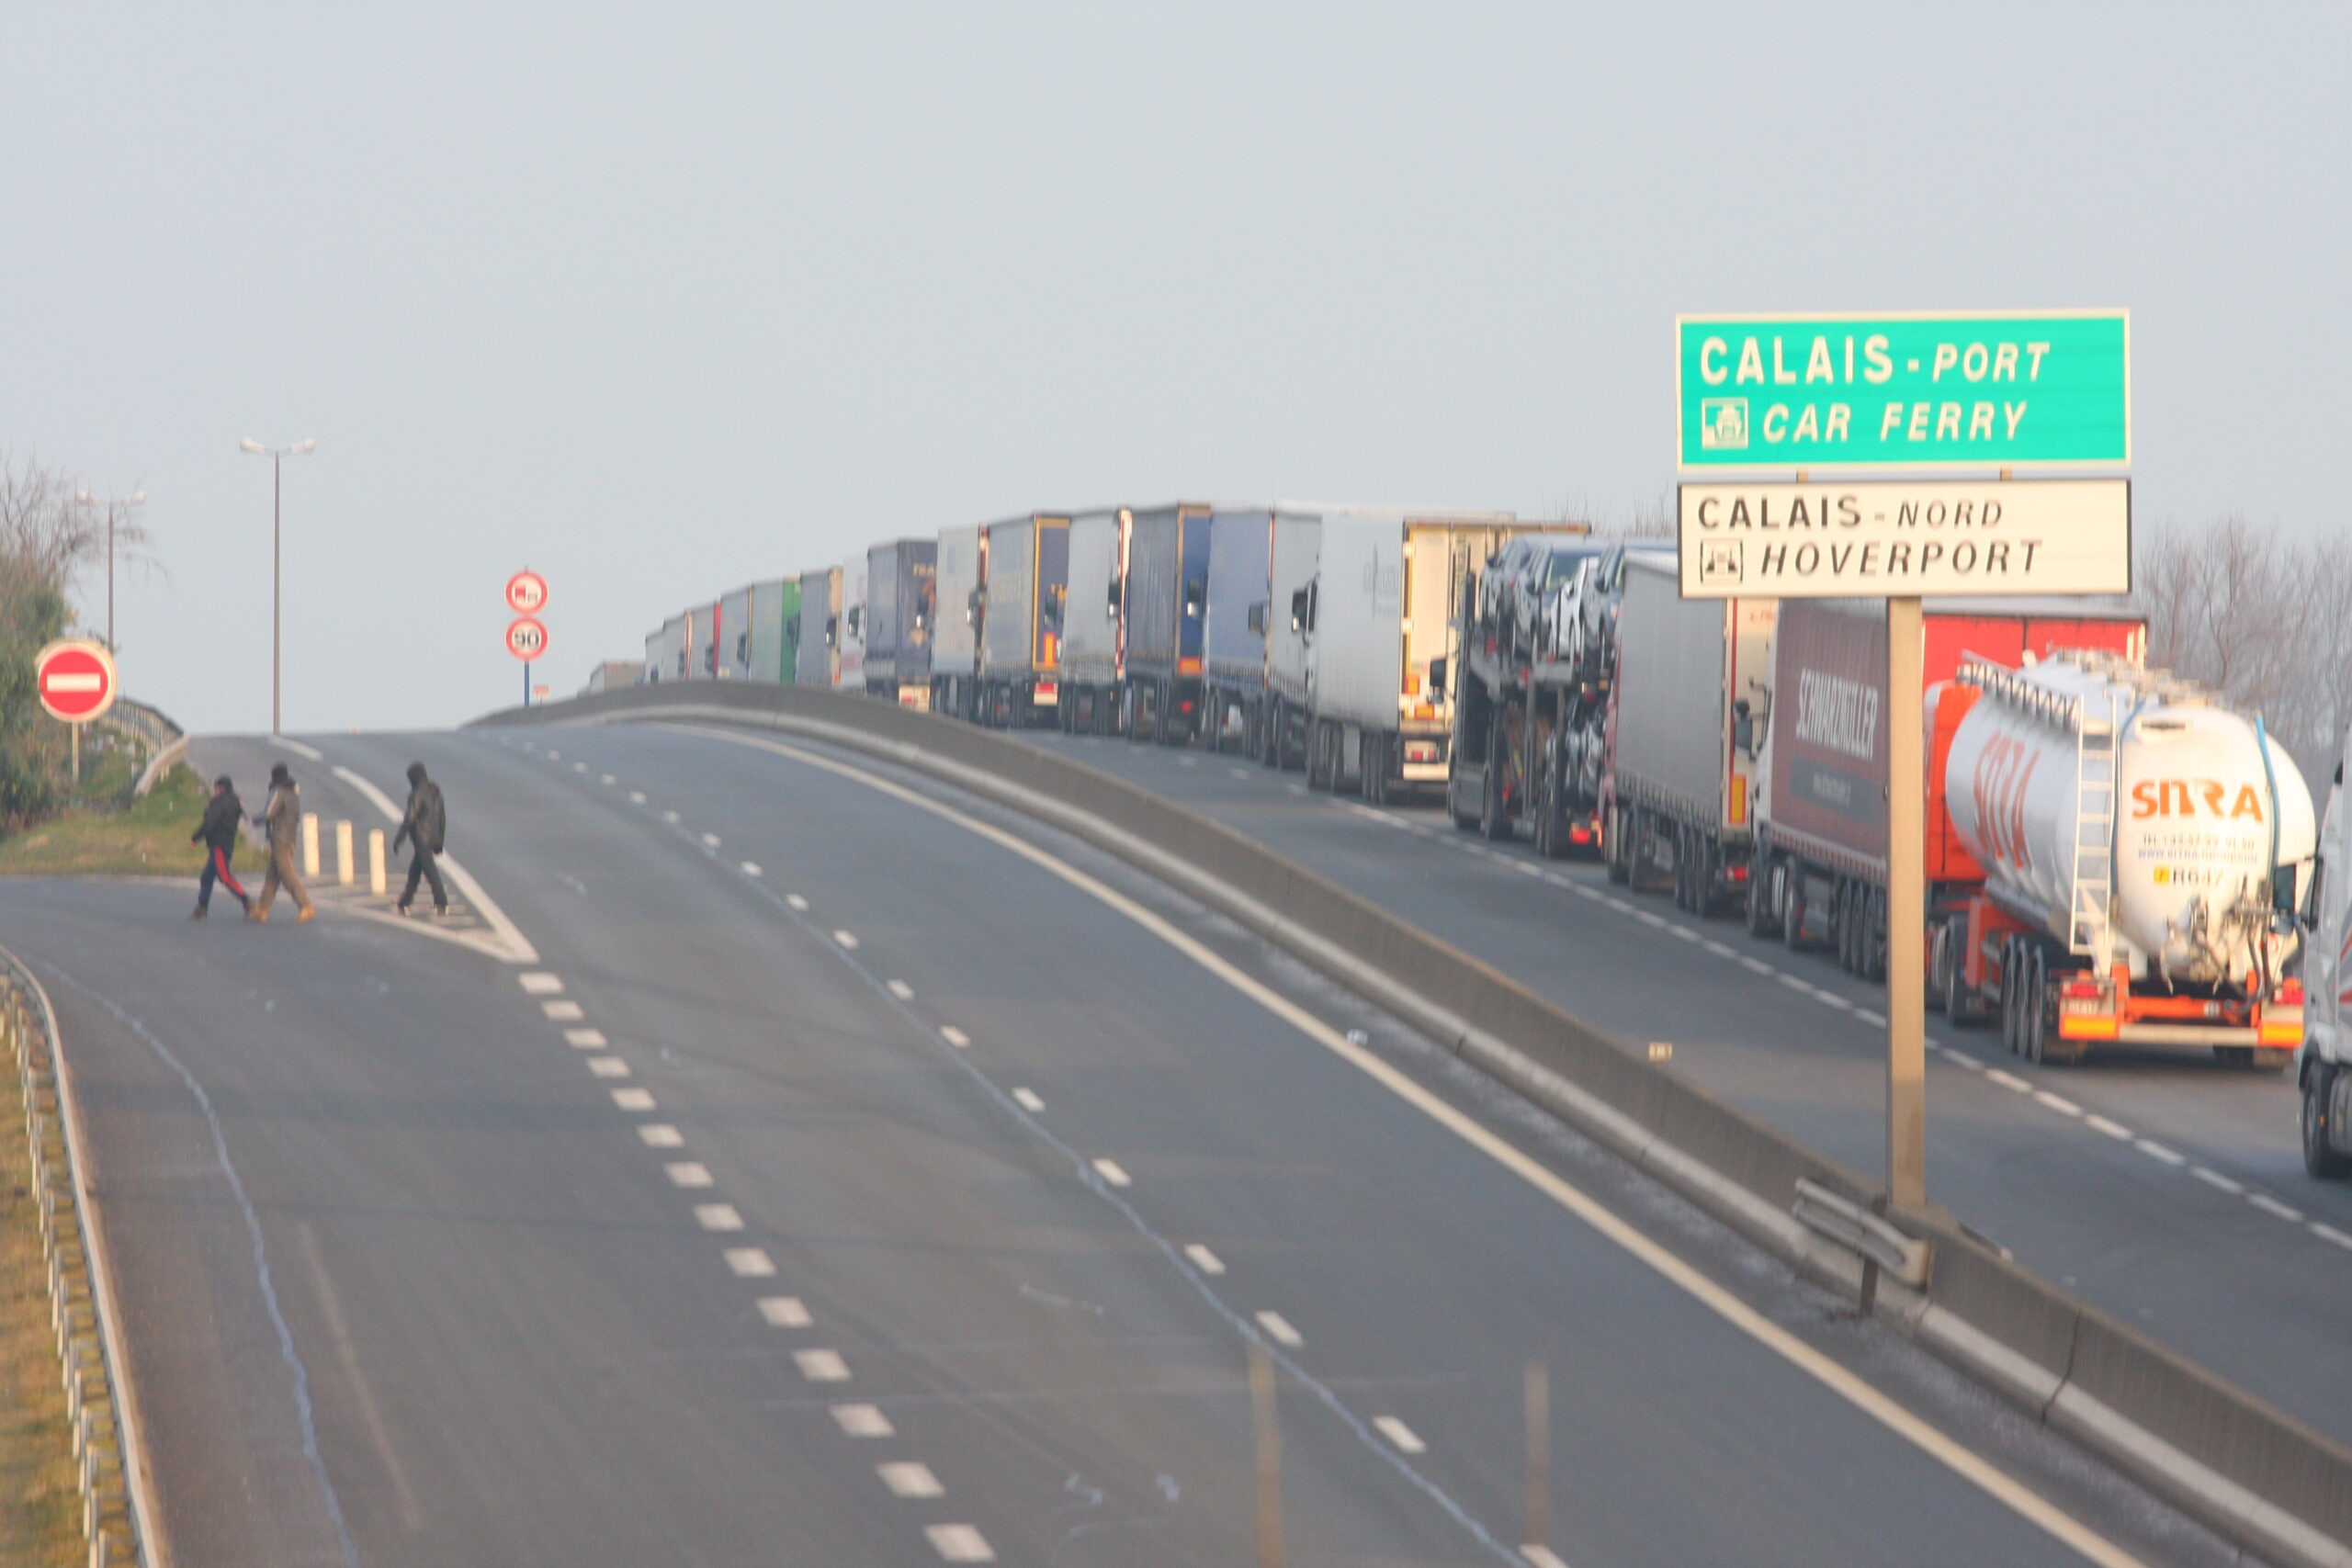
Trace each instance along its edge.
<instances>
[{"instance_id":1,"label":"long curved concrete median barrier separating the two carriageways","mask_svg":"<svg viewBox=\"0 0 2352 1568\"><path fill-rule=\"evenodd\" d=\"M1178 886L1557 1112L1809 1276L1853 1291L1860 1260L1799 1225L1797 1180L1875 1204L1879 1182L1675 1077L1475 957L1164 797L1021 741L863 696L680 682L508 710L485 726L689 719L896 762ZM1924 1291L1877 1314L2239 1547L2352 1568L2352 1450L2018 1267L1943 1213Z\"/></svg>"}]
</instances>

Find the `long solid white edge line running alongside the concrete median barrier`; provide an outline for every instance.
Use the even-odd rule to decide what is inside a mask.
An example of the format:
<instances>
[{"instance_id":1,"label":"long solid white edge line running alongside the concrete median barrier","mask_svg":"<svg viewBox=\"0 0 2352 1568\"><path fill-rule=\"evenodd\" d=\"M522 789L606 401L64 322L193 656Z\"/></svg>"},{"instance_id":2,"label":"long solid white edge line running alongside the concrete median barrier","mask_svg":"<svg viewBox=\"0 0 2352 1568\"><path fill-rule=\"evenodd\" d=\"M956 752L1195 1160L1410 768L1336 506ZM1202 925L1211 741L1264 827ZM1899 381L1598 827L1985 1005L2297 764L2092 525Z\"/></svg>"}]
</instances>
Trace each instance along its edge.
<instances>
[{"instance_id":1,"label":"long solid white edge line running alongside the concrete median barrier","mask_svg":"<svg viewBox=\"0 0 2352 1568\"><path fill-rule=\"evenodd\" d=\"M2100 1568L2143 1568L2140 1559L2131 1556L2112 1540L2107 1540L2091 1526L2082 1523L2079 1519L2053 1505L2049 1497L2020 1483L2016 1476L2006 1474L2004 1469L1999 1469L1997 1465L1971 1450L1966 1443L1959 1443L1950 1434L1940 1432L1936 1425L1915 1415L1893 1396L1879 1392L1851 1368L1837 1363L1825 1352L1797 1338L1790 1328L1783 1328L1773 1319L1764 1316L1762 1312L1743 1302L1738 1295L1733 1295L1729 1288L1703 1274L1696 1265L1686 1262L1684 1258L1668 1251L1663 1244L1635 1229L1630 1220L1599 1204L1583 1187L1569 1182L1557 1171L1541 1164L1536 1157L1526 1154L1494 1128L1484 1126L1468 1112L1439 1098L1432 1088L1425 1088L1423 1084L1411 1079L1402 1067L1388 1063L1367 1046L1357 1046L1343 1032L1334 1030L1329 1023L1324 1023L1308 1009L1298 1006L1296 1001L1279 994L1270 985L1256 980L1240 966L1230 964L1228 959L1209 950L1197 938L1188 936L1185 931L1178 931L1164 917L1138 905L1134 898L1127 898L1124 893L1103 884L1101 879L1089 877L1075 865L1058 860L1044 849L1002 827L983 823L964 811L957 811L955 806L929 799L927 795L920 795L906 785L856 769L847 762L818 757L816 752L809 752L804 748L786 745L781 741L769 741L764 736L741 736L720 729L706 729L694 733L701 733L703 738L722 745L741 745L748 750L762 750L779 757L793 757L795 762L835 773L840 778L854 778L880 795L889 795L891 799L901 799L915 806L917 811L927 811L941 820L955 823L967 832L1002 846L1007 853L1014 853L1028 860L1030 865L1037 865L1058 882L1084 891L1103 907L1117 910L1143 931L1150 931L1162 943L1192 959L1192 964L1200 966L1202 971L1216 976L1235 992L1249 997L1268 1013L1282 1018L1294 1030L1298 1030L1315 1044L1324 1046L1327 1051L1331 1051L1334 1056L1352 1065L1357 1072L1388 1088L1392 1095L1397 1095L1428 1119L1444 1126L1449 1133L1454 1133L1470 1147L1479 1150L1498 1166L1508 1168L1529 1187L1543 1192L1548 1199L1573 1213L1578 1220L1583 1220L1588 1227L1606 1237L1621 1251L1637 1258L1651 1272L1661 1274L1665 1281L1670 1281L1684 1295L1689 1295L1708 1312L1719 1316L1724 1324L1745 1333L1750 1340L1773 1352L1790 1366L1799 1368L1818 1385L1844 1399L1849 1406L1853 1406L1870 1420L1879 1422L1903 1441L1912 1443L1924 1455L1929 1455L1952 1474L1962 1476L1964 1481L1983 1490L1987 1497L1997 1500L2002 1507L2030 1521L2034 1528L2044 1530L2046 1535L2067 1544L2072 1552L2091 1559L2093 1563L2100 1563Z\"/></svg>"}]
</instances>

